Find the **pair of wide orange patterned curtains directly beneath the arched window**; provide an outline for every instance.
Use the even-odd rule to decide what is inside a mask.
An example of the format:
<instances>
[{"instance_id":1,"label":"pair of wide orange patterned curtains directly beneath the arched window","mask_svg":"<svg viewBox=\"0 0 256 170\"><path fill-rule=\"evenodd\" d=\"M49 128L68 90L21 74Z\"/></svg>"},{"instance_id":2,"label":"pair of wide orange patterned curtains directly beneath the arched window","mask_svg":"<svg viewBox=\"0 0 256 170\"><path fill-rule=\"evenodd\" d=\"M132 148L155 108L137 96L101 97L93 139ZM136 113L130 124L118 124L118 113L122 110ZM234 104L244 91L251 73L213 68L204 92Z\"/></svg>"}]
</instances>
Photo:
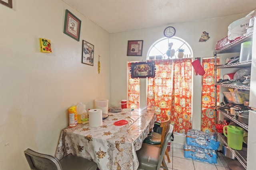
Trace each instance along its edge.
<instances>
[{"instance_id":1,"label":"pair of wide orange patterned curtains directly beneath the arched window","mask_svg":"<svg viewBox=\"0 0 256 170\"><path fill-rule=\"evenodd\" d=\"M156 76L148 78L147 109L157 121L171 116L174 131L191 129L191 59L156 60Z\"/></svg>"}]
</instances>

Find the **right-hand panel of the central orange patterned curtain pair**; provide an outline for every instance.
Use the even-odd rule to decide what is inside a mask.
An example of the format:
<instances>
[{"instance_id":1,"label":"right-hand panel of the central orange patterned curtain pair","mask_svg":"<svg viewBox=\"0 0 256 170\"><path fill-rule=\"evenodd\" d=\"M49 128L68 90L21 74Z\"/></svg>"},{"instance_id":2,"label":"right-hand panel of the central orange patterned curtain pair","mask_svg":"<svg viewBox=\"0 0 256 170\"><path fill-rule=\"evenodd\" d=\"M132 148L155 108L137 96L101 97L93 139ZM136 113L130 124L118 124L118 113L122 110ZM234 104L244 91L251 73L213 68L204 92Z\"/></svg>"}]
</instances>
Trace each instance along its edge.
<instances>
[{"instance_id":1,"label":"right-hand panel of the central orange patterned curtain pair","mask_svg":"<svg viewBox=\"0 0 256 170\"><path fill-rule=\"evenodd\" d=\"M186 134L192 125L191 84L192 59L177 60L174 63L171 123L178 133Z\"/></svg>"}]
</instances>

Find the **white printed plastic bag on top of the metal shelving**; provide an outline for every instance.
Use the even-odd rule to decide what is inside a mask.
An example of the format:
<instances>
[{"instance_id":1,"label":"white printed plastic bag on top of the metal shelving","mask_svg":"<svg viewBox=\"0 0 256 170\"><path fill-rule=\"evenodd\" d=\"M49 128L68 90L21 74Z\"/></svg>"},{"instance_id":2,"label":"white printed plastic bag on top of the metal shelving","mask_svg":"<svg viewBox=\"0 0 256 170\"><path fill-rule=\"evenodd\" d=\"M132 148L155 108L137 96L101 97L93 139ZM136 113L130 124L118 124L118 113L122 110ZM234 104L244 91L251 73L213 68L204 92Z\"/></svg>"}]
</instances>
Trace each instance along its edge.
<instances>
[{"instance_id":1,"label":"white printed plastic bag on top of the metal shelving","mask_svg":"<svg viewBox=\"0 0 256 170\"><path fill-rule=\"evenodd\" d=\"M250 12L247 16L244 18L241 18L239 20L236 20L230 25L228 25L228 39L229 40L235 40L237 37L243 36L247 29L246 27L249 26L250 18L252 17L251 14L254 13L254 10Z\"/></svg>"}]
</instances>

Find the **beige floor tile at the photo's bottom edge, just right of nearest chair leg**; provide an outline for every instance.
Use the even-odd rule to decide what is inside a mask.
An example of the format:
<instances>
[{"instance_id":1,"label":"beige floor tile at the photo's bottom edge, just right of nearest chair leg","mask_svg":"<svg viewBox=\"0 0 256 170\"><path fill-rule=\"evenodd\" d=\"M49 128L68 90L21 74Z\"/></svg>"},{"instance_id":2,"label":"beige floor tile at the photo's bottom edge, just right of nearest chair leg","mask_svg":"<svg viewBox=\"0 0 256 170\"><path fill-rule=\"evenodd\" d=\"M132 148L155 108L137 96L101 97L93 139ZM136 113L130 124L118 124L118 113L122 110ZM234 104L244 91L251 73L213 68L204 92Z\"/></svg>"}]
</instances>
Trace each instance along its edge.
<instances>
[{"instance_id":1,"label":"beige floor tile at the photo's bottom edge, just right of nearest chair leg","mask_svg":"<svg viewBox=\"0 0 256 170\"><path fill-rule=\"evenodd\" d=\"M188 160L184 158L172 157L173 170L195 170L193 160Z\"/></svg>"}]
</instances>

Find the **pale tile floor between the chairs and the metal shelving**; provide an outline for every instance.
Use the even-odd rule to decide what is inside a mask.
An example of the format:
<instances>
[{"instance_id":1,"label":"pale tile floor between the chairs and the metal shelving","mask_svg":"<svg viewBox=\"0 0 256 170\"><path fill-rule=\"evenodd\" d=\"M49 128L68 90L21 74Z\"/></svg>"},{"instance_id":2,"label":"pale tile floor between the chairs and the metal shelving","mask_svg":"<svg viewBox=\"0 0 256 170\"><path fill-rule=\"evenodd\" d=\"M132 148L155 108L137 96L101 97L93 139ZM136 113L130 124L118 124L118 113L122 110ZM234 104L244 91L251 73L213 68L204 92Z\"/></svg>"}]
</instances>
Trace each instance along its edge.
<instances>
[{"instance_id":1,"label":"pale tile floor between the chairs and the metal shelving","mask_svg":"<svg viewBox=\"0 0 256 170\"><path fill-rule=\"evenodd\" d=\"M170 147L169 156L171 160L170 163L166 156L164 156L168 170L228 170L228 168L225 168L227 166L220 160L222 156L218 156L216 164L192 160L192 158L184 157L183 145L175 143ZM160 170L162 170L162 168L160 168Z\"/></svg>"}]
</instances>

